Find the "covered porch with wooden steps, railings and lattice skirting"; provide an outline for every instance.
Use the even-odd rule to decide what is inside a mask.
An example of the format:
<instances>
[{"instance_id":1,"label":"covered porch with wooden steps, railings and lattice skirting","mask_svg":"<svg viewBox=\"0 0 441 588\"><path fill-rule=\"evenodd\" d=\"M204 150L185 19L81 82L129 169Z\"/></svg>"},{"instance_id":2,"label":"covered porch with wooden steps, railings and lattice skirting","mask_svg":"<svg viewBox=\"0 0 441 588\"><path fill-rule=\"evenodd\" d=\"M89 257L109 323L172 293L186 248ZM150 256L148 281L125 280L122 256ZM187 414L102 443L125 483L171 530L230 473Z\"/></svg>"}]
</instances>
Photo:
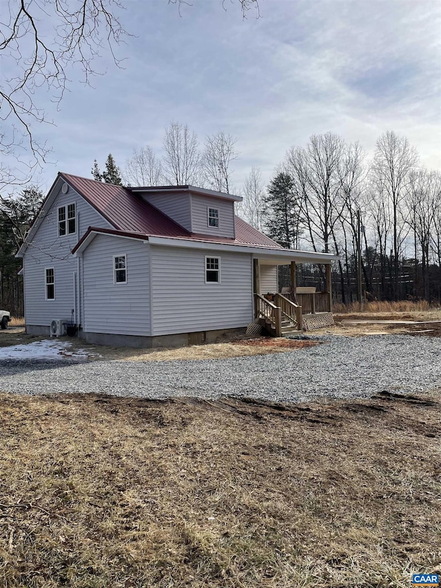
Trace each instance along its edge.
<instances>
[{"instance_id":1,"label":"covered porch with wooden steps, railings and lattice skirting","mask_svg":"<svg viewBox=\"0 0 441 588\"><path fill-rule=\"evenodd\" d=\"M300 253L300 252L299 252ZM278 286L278 266L274 259L254 259L254 319L274 336L299 334L303 331L320 329L334 324L332 316L331 261L329 255L322 261L316 254L314 261L290 262L291 285ZM319 259L317 258L320 258ZM298 263L323 263L325 265L325 291L317 292L316 287L297 285ZM279 292L280 290L280 292Z\"/></svg>"}]
</instances>

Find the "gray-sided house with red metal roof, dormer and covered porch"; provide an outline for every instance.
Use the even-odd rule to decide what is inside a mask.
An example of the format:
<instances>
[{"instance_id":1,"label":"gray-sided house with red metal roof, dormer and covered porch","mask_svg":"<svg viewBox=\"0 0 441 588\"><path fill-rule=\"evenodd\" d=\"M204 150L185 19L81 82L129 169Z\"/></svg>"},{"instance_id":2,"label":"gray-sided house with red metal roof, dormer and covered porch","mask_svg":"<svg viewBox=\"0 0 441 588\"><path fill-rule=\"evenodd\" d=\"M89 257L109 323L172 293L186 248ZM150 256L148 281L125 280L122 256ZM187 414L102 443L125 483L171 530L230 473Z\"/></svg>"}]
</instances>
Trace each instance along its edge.
<instances>
[{"instance_id":1,"label":"gray-sided house with red metal roof, dormer and covered porch","mask_svg":"<svg viewBox=\"0 0 441 588\"><path fill-rule=\"evenodd\" d=\"M27 332L64 321L90 343L156 347L210 341L254 318L280 335L301 327L302 301L329 320L336 256L280 247L234 214L240 200L59 173L17 253ZM297 293L298 263L325 264L327 292ZM286 295L280 264L291 265Z\"/></svg>"}]
</instances>

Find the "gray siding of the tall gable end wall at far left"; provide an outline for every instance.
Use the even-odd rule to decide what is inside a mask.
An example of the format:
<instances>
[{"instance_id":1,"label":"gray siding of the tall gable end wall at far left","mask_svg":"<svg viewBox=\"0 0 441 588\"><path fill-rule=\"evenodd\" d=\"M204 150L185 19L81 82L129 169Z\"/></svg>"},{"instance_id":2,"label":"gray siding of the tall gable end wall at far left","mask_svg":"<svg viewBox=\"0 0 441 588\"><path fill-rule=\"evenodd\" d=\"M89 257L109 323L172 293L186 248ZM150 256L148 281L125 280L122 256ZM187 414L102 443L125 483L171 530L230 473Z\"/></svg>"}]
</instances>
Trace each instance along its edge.
<instances>
[{"instance_id":1,"label":"gray siding of the tall gable end wall at far left","mask_svg":"<svg viewBox=\"0 0 441 588\"><path fill-rule=\"evenodd\" d=\"M58 208L76 204L76 234L58 236ZM74 272L76 258L70 251L88 227L109 227L109 223L79 194L60 191L43 216L32 243L23 255L25 322L49 326L54 318L71 318L74 308ZM55 299L45 300L45 268L54 268ZM77 317L80 320L80 316Z\"/></svg>"}]
</instances>

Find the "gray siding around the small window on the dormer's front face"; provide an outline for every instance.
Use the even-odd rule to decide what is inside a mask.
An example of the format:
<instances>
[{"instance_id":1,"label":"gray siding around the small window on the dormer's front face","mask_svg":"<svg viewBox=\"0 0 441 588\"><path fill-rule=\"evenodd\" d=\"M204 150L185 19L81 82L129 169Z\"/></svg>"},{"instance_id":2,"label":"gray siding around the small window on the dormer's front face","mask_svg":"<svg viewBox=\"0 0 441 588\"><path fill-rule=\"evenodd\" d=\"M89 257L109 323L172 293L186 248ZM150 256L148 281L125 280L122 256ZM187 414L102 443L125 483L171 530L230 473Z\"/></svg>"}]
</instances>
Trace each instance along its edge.
<instances>
[{"instance_id":1,"label":"gray siding around the small window on the dormer's front face","mask_svg":"<svg viewBox=\"0 0 441 588\"><path fill-rule=\"evenodd\" d=\"M208 208L218 209L218 228L208 226ZM192 194L192 232L234 239L234 202Z\"/></svg>"}]
</instances>

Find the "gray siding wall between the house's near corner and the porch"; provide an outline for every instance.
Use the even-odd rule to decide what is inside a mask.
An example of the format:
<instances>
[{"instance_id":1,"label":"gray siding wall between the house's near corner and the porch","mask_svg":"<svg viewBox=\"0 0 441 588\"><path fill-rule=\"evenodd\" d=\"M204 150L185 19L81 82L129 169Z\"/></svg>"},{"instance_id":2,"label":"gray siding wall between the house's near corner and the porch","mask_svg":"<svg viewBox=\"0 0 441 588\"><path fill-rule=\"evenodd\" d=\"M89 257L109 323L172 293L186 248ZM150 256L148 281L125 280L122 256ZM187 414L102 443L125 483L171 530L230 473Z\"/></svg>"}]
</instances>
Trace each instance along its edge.
<instances>
[{"instance_id":1,"label":"gray siding wall between the house's near corner and the porch","mask_svg":"<svg viewBox=\"0 0 441 588\"><path fill-rule=\"evenodd\" d=\"M152 335L244 327L253 320L252 257L151 246ZM205 256L220 258L220 283L205 283Z\"/></svg>"}]
</instances>

